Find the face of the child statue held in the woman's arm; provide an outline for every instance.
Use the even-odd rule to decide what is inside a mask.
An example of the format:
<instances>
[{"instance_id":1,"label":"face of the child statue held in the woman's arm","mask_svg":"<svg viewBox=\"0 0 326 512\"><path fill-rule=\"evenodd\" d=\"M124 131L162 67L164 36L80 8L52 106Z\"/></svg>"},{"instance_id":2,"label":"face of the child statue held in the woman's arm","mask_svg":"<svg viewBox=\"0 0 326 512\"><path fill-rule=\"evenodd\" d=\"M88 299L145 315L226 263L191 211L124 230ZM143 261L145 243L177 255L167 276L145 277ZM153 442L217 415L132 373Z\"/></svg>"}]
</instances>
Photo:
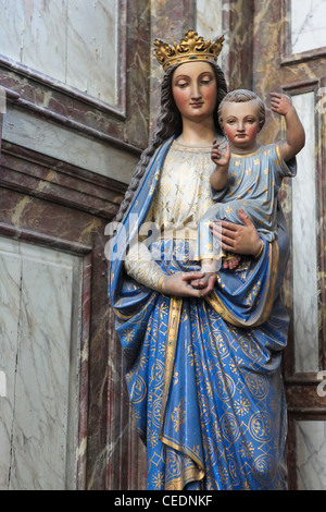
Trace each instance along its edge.
<instances>
[{"instance_id":1,"label":"face of the child statue held in the woman's arm","mask_svg":"<svg viewBox=\"0 0 326 512\"><path fill-rule=\"evenodd\" d=\"M260 132L260 107L256 100L227 101L222 108L222 127L231 148L249 153L256 148Z\"/></svg>"}]
</instances>

